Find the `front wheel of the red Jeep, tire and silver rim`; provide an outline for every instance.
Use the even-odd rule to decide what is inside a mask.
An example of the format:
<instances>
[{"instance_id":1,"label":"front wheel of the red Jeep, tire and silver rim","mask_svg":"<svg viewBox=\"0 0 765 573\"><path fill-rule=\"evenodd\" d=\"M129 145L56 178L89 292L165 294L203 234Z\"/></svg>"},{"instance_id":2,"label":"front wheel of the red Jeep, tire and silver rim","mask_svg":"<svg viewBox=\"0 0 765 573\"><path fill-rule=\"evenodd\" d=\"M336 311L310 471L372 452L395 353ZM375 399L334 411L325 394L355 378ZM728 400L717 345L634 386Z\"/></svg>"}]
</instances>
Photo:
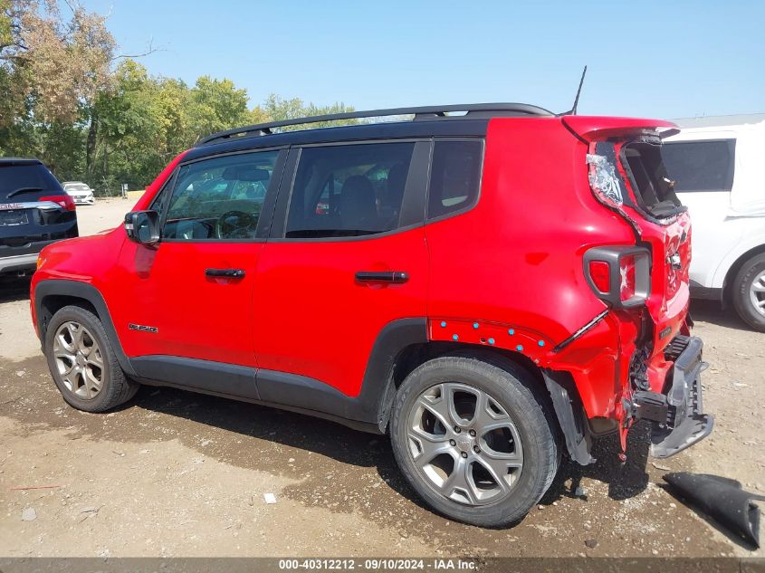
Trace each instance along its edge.
<instances>
[{"instance_id":1,"label":"front wheel of the red Jeep, tire and silver rim","mask_svg":"<svg viewBox=\"0 0 765 573\"><path fill-rule=\"evenodd\" d=\"M63 399L78 410L106 412L139 388L122 372L99 318L78 306L53 315L45 331L45 358Z\"/></svg>"}]
</instances>

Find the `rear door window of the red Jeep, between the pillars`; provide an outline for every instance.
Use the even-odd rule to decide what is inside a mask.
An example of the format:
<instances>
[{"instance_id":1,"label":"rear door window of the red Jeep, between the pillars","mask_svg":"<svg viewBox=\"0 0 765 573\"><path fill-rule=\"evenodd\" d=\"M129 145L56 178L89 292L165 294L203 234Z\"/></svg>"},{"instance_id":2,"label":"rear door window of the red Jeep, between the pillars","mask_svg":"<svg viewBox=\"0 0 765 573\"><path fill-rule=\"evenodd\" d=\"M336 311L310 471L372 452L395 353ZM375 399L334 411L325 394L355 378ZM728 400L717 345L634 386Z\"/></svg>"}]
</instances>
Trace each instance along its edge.
<instances>
[{"instance_id":1,"label":"rear door window of the red Jeep, between the pillars","mask_svg":"<svg viewBox=\"0 0 765 573\"><path fill-rule=\"evenodd\" d=\"M414 143L368 143L302 149L286 237L396 229L414 148Z\"/></svg>"}]
</instances>

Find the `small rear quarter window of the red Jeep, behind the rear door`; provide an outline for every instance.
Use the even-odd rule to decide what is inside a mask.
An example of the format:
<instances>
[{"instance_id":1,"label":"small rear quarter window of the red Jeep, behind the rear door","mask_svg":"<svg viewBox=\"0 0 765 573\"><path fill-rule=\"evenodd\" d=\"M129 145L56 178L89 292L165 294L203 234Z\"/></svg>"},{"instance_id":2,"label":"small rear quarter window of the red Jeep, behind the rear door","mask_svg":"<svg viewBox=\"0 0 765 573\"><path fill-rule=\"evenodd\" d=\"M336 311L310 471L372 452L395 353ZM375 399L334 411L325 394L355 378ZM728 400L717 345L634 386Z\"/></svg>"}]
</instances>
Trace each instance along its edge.
<instances>
[{"instance_id":1,"label":"small rear quarter window of the red Jeep, behind the rear door","mask_svg":"<svg viewBox=\"0 0 765 573\"><path fill-rule=\"evenodd\" d=\"M481 182L481 141L436 141L427 217L433 219L473 205Z\"/></svg>"}]
</instances>

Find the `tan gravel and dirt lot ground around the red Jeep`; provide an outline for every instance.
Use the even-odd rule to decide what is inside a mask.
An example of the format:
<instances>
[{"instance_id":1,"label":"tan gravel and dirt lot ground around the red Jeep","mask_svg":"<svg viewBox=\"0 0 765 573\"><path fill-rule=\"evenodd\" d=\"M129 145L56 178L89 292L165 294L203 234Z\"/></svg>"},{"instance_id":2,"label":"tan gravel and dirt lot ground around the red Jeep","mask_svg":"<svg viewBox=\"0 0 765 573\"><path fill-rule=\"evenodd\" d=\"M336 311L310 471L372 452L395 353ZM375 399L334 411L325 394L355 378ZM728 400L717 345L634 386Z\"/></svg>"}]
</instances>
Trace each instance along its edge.
<instances>
[{"instance_id":1,"label":"tan gravel and dirt lot ground around the red Jeep","mask_svg":"<svg viewBox=\"0 0 765 573\"><path fill-rule=\"evenodd\" d=\"M130 205L78 208L81 233L120 224ZM426 510L382 436L167 388L108 415L66 406L28 288L0 282L0 556L765 556L662 486L688 470L765 492L765 335L717 305L693 304L710 438L651 461L636 427L624 465L604 439L598 462L564 463L519 525L481 530Z\"/></svg>"}]
</instances>

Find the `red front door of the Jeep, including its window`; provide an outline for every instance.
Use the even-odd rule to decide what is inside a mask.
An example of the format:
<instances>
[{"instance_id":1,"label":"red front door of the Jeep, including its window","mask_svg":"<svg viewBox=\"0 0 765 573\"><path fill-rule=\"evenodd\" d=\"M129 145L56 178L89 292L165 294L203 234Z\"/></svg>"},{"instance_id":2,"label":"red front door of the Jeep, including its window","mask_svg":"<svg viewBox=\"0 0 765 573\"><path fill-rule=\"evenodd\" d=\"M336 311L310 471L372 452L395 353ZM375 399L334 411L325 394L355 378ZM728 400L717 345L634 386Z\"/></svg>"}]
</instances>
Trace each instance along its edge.
<instances>
[{"instance_id":1,"label":"red front door of the Jeep, including its window","mask_svg":"<svg viewBox=\"0 0 765 573\"><path fill-rule=\"evenodd\" d=\"M153 204L165 212L158 246L126 242L120 253L115 279L129 301L119 305L115 327L129 357L257 366L259 229L270 218L261 217L263 205L275 193L274 172L285 153L232 154L178 167Z\"/></svg>"}]
</instances>

